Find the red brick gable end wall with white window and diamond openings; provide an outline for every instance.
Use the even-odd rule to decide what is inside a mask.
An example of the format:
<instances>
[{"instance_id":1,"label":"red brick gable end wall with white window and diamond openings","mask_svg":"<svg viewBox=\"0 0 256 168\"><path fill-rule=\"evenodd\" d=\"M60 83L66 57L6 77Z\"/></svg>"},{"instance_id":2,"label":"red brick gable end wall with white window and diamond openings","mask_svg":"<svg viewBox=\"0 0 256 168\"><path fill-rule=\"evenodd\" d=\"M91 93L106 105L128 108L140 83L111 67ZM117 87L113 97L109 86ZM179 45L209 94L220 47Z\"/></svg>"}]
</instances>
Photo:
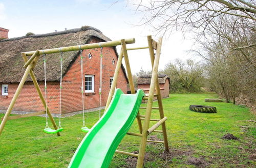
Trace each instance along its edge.
<instances>
[{"instance_id":1,"label":"red brick gable end wall with white window and diamond openings","mask_svg":"<svg viewBox=\"0 0 256 168\"><path fill-rule=\"evenodd\" d=\"M93 39L91 43L100 42ZM88 58L89 52L92 54L92 59ZM99 79L100 79L100 48L84 50L83 54L83 76L94 75L94 95L87 95L84 99L86 109L99 107ZM115 64L112 65L112 60ZM117 56L112 47L103 48L103 70L102 70L102 94L101 104L105 105L108 99L110 90L110 77L114 76ZM63 113L78 111L82 109L81 97L81 72L80 72L80 57L74 62L68 73L63 77ZM84 78L83 78L84 81ZM120 88L124 93L127 92L126 79L123 71L119 73L117 88ZM66 88L69 88L66 90ZM85 94L86 95L86 94Z\"/></svg>"}]
</instances>

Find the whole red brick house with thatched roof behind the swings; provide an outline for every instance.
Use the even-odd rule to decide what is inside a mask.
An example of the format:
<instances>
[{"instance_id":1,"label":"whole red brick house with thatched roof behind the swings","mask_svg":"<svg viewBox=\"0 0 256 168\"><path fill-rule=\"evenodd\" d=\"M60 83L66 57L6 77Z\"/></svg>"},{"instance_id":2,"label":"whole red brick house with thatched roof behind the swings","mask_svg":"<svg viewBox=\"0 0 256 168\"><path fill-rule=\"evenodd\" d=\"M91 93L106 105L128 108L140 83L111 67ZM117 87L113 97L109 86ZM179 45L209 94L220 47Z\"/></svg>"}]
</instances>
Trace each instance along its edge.
<instances>
[{"instance_id":1,"label":"whole red brick house with thatched roof behind the swings","mask_svg":"<svg viewBox=\"0 0 256 168\"><path fill-rule=\"evenodd\" d=\"M110 39L90 26L0 41L0 112L6 112L19 80L25 72L25 68L23 68L24 61L20 52L104 41L110 41ZM63 52L62 114L82 110L81 59L79 56L80 51ZM100 48L83 50L82 56L82 76L83 82L86 83L84 105L90 111L99 107ZM40 89L44 93L44 64L42 58L41 55L34 73ZM103 48L102 106L105 105L108 98L117 59L116 47ZM47 54L46 60L47 104L51 112L56 114L59 113L60 53ZM120 88L124 93L127 92L127 77L123 66L119 73L117 88ZM42 110L44 110L44 106L29 76L15 103L13 112Z\"/></svg>"}]
</instances>

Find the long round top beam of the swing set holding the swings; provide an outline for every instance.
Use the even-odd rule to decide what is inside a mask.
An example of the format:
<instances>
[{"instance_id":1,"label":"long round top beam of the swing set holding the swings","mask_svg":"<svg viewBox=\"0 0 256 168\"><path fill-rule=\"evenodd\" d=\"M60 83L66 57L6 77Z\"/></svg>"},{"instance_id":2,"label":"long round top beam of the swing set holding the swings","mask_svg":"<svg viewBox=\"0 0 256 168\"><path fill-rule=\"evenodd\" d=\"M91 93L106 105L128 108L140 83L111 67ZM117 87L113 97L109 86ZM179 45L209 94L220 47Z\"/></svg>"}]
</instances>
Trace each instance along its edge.
<instances>
[{"instance_id":1,"label":"long round top beam of the swing set holding the swings","mask_svg":"<svg viewBox=\"0 0 256 168\"><path fill-rule=\"evenodd\" d=\"M135 43L135 39L124 39L125 44L133 44ZM101 47L113 47L121 45L121 40L115 41L106 41L100 43L92 43L92 44L83 44L83 45L74 45L69 47L59 47L59 48L51 48L51 49L44 49L39 50L39 54L48 54L48 53L57 53L57 52L68 52L68 51L77 51L81 49L93 49L93 48L101 48ZM27 56L33 55L36 51L28 51L24 52Z\"/></svg>"}]
</instances>

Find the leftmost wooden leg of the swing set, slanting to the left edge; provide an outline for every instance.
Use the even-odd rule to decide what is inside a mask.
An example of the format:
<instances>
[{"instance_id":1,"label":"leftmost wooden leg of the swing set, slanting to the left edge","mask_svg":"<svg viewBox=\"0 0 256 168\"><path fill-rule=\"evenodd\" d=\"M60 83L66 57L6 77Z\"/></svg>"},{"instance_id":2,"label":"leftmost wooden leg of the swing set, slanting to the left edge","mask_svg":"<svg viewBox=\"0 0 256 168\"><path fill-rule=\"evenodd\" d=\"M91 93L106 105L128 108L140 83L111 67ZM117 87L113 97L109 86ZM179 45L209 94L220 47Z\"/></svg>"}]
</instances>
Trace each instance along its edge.
<instances>
[{"instance_id":1,"label":"leftmost wooden leg of the swing set, slanting to the left edge","mask_svg":"<svg viewBox=\"0 0 256 168\"><path fill-rule=\"evenodd\" d=\"M28 77L28 75L29 75L29 72L30 72L32 66L33 66L33 65L30 64L30 65L26 68L26 71L25 71L25 73L24 73L24 75L23 75L23 77L22 77L22 80L20 80L20 82L19 82L18 88L17 88L15 94L13 95L12 101L11 101L11 103L10 103L10 105L9 105L9 107L8 107L8 109L7 109L7 111L6 111L6 113L5 113L5 117L4 117L3 121L1 122L1 125L0 125L0 135L1 135L1 133L3 132L3 129L4 129L4 127L5 127L5 124L6 124L7 120L8 120L8 117L9 117L10 114L11 114L12 108L13 108L13 106L14 106L14 104L15 104L17 98L18 98L18 95L19 95L20 91L22 91L23 85L24 85L24 83L25 83L25 81L26 81L26 79L27 79L27 77Z\"/></svg>"}]
</instances>

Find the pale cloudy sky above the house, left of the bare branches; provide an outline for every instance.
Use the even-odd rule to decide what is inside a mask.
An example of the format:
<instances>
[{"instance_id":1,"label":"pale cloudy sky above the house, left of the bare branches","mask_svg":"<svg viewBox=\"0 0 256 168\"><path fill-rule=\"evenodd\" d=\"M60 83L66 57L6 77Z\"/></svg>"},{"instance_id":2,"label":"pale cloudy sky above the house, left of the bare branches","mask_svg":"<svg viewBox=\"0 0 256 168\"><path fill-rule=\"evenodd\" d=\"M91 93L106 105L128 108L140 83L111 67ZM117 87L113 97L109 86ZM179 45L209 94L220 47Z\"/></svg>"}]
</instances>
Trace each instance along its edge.
<instances>
[{"instance_id":1,"label":"pale cloudy sky above the house, left of the bare branches","mask_svg":"<svg viewBox=\"0 0 256 168\"><path fill-rule=\"evenodd\" d=\"M51 33L55 30L79 28L90 25L112 40L135 38L135 44L127 47L147 46L147 35L158 40L149 25L137 26L142 13L126 4L126 0L0 0L0 27L9 29L9 38ZM185 39L181 32L163 38L159 69L176 58L185 60L193 41ZM120 47L117 47L118 51ZM129 51L132 73L151 70L148 50Z\"/></svg>"}]
</instances>

